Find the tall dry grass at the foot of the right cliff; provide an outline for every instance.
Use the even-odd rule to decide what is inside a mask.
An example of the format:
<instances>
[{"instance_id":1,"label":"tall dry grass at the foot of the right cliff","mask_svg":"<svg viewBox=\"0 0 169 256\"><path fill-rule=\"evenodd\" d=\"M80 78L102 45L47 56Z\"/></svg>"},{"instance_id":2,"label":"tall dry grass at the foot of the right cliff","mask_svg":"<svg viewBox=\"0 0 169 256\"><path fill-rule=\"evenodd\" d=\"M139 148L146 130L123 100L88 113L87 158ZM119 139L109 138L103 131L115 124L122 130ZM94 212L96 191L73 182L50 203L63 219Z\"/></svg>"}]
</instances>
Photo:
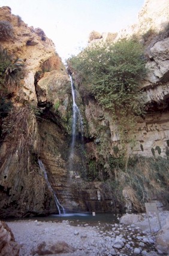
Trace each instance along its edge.
<instances>
[{"instance_id":1,"label":"tall dry grass at the foot of the right cliff","mask_svg":"<svg viewBox=\"0 0 169 256\"><path fill-rule=\"evenodd\" d=\"M115 180L114 180L115 179ZM165 205L169 201L169 159L129 159L125 170L118 168L102 186L104 198L111 198L121 206L131 201L132 208L141 212L144 203L155 199Z\"/></svg>"}]
</instances>

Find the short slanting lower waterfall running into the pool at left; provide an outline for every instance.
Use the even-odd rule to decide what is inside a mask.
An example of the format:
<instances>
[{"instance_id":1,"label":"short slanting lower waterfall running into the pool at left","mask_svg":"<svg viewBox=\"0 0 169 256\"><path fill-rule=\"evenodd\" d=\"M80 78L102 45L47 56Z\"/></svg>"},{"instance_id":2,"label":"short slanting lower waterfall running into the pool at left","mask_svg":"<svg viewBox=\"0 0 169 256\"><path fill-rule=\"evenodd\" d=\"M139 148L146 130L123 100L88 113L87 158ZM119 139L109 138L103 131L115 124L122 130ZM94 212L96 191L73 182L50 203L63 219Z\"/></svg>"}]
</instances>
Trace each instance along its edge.
<instances>
[{"instance_id":1,"label":"short slanting lower waterfall running into the pool at left","mask_svg":"<svg viewBox=\"0 0 169 256\"><path fill-rule=\"evenodd\" d=\"M64 207L62 206L62 204L59 203L59 200L58 200L58 198L57 198L57 196L56 196L56 192L53 190L52 186L50 185L49 179L48 179L48 177L47 177L46 168L44 167L44 164L43 164L43 162L42 162L40 159L38 159L38 164L40 165L40 168L41 168L41 170L43 171L43 174L44 174L44 177L45 177L45 179L46 179L48 188L50 189L50 191L52 191L52 193L53 193L53 195L54 195L55 204L56 204L56 206L57 206L57 208L58 208L59 215L65 214L65 209L64 209Z\"/></svg>"}]
</instances>

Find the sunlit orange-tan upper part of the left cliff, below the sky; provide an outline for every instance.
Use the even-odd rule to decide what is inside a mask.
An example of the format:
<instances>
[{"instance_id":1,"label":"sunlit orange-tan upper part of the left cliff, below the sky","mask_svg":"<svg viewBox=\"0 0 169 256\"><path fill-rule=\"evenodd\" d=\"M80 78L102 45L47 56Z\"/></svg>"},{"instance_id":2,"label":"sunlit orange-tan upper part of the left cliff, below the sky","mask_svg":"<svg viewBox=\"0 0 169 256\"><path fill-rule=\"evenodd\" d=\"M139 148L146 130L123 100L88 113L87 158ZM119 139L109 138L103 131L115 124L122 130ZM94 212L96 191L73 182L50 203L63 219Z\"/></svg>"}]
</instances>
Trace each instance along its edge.
<instances>
[{"instance_id":1,"label":"sunlit orange-tan upper part of the left cliff, below the sky","mask_svg":"<svg viewBox=\"0 0 169 256\"><path fill-rule=\"evenodd\" d=\"M11 14L9 7L0 8L0 19L11 23L14 34L10 40L1 41L1 47L7 49L8 53L13 54L16 58L23 59L26 76L22 92L25 100L36 101L35 72L40 70L44 61L55 55L55 45L46 37L42 29L29 27L19 16Z\"/></svg>"}]
</instances>

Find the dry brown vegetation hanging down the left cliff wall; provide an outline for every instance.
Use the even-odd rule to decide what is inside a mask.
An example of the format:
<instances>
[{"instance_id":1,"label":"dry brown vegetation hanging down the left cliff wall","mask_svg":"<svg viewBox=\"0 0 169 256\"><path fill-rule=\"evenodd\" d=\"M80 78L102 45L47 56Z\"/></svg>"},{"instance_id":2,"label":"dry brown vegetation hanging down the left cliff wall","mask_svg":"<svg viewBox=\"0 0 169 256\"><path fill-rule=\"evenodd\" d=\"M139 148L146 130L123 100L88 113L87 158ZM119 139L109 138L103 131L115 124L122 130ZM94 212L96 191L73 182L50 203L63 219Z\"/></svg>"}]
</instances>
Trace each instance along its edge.
<instances>
[{"instance_id":1,"label":"dry brown vegetation hanging down the left cliff wall","mask_svg":"<svg viewBox=\"0 0 169 256\"><path fill-rule=\"evenodd\" d=\"M14 107L5 118L2 132L7 145L5 158L13 156L18 167L27 168L31 154L38 153L38 127L31 107Z\"/></svg>"}]
</instances>

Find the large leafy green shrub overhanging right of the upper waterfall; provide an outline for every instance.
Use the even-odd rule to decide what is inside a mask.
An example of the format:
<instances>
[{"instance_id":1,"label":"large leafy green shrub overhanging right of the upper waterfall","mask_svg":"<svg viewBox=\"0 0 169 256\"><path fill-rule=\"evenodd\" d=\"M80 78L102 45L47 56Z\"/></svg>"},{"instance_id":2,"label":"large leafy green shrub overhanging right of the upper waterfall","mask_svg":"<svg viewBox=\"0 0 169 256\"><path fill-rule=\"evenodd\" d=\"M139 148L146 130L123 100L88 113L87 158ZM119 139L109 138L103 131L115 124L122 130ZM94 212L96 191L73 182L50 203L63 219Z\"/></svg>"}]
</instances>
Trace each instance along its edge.
<instances>
[{"instance_id":1,"label":"large leafy green shrub overhanging right of the upper waterfall","mask_svg":"<svg viewBox=\"0 0 169 256\"><path fill-rule=\"evenodd\" d=\"M104 109L111 110L121 133L131 129L135 115L142 113L140 80L146 74L143 47L135 40L87 47L68 60L81 85L90 85ZM130 121L130 122L129 122ZM122 139L122 137L121 137Z\"/></svg>"}]
</instances>

